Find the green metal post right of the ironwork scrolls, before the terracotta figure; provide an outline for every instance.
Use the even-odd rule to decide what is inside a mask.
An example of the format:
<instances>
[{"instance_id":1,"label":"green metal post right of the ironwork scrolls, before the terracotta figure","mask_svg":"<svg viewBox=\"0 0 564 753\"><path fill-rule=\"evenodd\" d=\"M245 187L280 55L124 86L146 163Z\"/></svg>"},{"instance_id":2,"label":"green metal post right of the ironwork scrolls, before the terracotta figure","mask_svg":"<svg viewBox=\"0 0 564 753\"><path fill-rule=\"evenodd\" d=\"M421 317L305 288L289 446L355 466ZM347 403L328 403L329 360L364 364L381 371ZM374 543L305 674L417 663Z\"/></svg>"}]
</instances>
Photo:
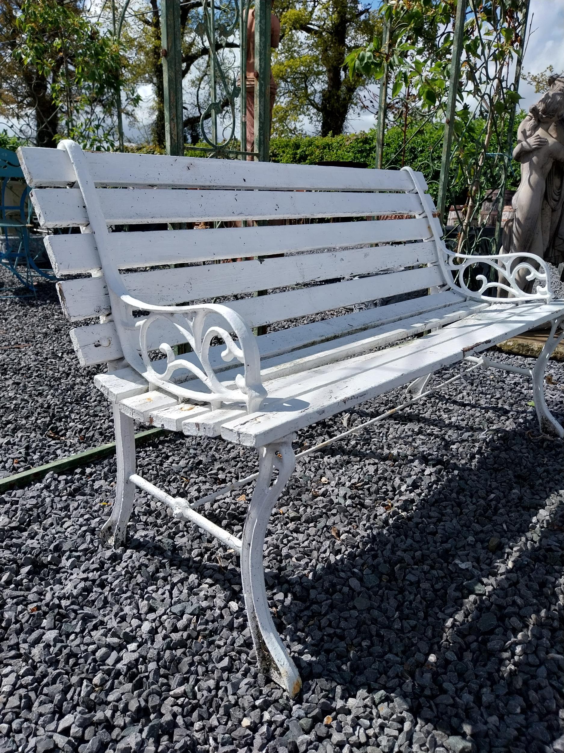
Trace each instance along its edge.
<instances>
[{"instance_id":1,"label":"green metal post right of the ironwork scrolls, before the terracotta figure","mask_svg":"<svg viewBox=\"0 0 564 753\"><path fill-rule=\"evenodd\" d=\"M270 160L270 14L271 0L255 2L255 151Z\"/></svg>"}]
</instances>

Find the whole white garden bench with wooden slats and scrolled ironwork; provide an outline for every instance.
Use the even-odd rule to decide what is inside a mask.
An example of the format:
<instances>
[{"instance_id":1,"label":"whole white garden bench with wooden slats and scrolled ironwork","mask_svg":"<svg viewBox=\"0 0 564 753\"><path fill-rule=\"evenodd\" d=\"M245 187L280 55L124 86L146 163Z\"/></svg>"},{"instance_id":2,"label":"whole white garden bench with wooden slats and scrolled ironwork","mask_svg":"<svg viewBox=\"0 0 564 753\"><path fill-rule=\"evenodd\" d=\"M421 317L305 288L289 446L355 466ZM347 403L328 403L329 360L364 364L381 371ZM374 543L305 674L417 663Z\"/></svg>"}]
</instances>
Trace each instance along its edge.
<instances>
[{"instance_id":1,"label":"whole white garden bench with wooden slats and scrolled ironwork","mask_svg":"<svg viewBox=\"0 0 564 753\"><path fill-rule=\"evenodd\" d=\"M510 255L448 252L420 173L85 154L70 141L18 154L41 226L81 230L52 235L46 245L56 275L65 278L58 288L68 319L99 319L71 330L80 363L108 364L95 383L113 404L117 492L103 535L123 542L138 486L240 553L259 665L290 694L301 681L268 609L262 547L295 465L294 432L399 386L420 392L429 374L465 359L504 367L478 354L551 322L532 386L541 430L564 435L543 394L564 319L547 267L526 255L516 266ZM332 217L357 221L111 233L123 224ZM217 264L233 258L244 261ZM508 298L488 297L501 283L485 278L478 292L468 290L475 261L505 277ZM536 282L531 294L514 282L523 264ZM84 273L90 276L77 276ZM405 293L413 296L358 310ZM217 297L229 300L202 303ZM332 309L348 312L335 316ZM322 321L311 316L324 313ZM253 335L253 327L305 316L308 323ZM175 355L174 346L186 342L192 352ZM165 358L152 360L155 349ZM241 539L136 473L134 420L258 450Z\"/></svg>"}]
</instances>

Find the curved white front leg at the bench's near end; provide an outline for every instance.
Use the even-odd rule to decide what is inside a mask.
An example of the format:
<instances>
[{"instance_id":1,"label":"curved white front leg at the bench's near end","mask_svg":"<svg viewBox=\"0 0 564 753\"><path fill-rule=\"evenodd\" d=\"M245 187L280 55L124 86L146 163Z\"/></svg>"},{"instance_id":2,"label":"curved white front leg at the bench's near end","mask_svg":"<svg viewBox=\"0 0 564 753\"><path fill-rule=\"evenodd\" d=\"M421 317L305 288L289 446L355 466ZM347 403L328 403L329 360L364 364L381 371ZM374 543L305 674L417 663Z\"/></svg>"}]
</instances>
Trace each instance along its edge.
<instances>
[{"instance_id":1,"label":"curved white front leg at the bench's near end","mask_svg":"<svg viewBox=\"0 0 564 753\"><path fill-rule=\"evenodd\" d=\"M260 670L292 697L299 693L302 679L280 640L268 608L262 547L274 503L295 465L296 457L289 439L259 449L259 477L247 511L241 549L245 607ZM274 470L278 475L272 483Z\"/></svg>"}]
</instances>

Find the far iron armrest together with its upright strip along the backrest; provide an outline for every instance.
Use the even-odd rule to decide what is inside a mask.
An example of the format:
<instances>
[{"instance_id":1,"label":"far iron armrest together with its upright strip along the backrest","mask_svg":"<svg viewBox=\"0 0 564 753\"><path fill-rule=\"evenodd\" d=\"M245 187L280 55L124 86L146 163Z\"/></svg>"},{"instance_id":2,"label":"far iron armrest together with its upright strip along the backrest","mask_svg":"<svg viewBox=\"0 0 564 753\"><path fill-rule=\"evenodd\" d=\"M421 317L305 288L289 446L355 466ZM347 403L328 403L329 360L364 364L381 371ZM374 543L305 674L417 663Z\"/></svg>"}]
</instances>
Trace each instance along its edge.
<instances>
[{"instance_id":1,"label":"far iron armrest together with its upright strip along the backrest","mask_svg":"<svg viewBox=\"0 0 564 753\"><path fill-rule=\"evenodd\" d=\"M472 300L481 300L486 303L524 303L532 300L549 301L553 299L553 292L550 289L550 272L546 262L535 254L499 254L494 256L478 256L459 254L449 251L442 239L443 230L441 223L436 216L437 212L432 203L429 194L425 193L425 186L421 183L417 173L411 167L402 167L411 175L414 183L414 191L420 197L423 206L423 212L429 221L429 227L432 232L432 238L437 245L438 264L441 267L444 282L456 293L461 293ZM519 261L517 261L519 260ZM472 267L472 264L489 264L498 273L498 279L489 282L484 275L478 275L476 278L480 283L480 288L470 290L464 279L465 270ZM527 281L537 280L538 285L534 293L526 293L517 285L516 277L520 270L526 272ZM453 273L456 273L456 280ZM493 298L486 295L489 290L505 291L508 295L506 298Z\"/></svg>"}]
</instances>

